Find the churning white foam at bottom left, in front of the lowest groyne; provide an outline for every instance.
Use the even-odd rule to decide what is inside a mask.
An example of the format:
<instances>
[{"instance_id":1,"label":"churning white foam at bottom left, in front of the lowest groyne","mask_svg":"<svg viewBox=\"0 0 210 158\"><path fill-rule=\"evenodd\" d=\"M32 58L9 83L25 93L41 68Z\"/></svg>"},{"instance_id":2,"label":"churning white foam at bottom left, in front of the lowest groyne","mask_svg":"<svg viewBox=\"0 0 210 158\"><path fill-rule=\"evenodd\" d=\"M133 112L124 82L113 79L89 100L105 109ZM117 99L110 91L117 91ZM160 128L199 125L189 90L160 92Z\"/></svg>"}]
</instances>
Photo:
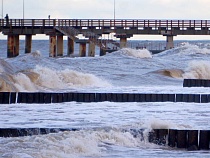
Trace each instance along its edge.
<instances>
[{"instance_id":1,"label":"churning white foam at bottom left, in front of the lowest groyne","mask_svg":"<svg viewBox=\"0 0 210 158\"><path fill-rule=\"evenodd\" d=\"M107 144L139 146L139 139L129 132L75 131L56 134L0 139L1 153L7 157L69 158L100 157ZM12 149L8 152L7 149ZM25 150L27 149L27 150Z\"/></svg>"}]
</instances>

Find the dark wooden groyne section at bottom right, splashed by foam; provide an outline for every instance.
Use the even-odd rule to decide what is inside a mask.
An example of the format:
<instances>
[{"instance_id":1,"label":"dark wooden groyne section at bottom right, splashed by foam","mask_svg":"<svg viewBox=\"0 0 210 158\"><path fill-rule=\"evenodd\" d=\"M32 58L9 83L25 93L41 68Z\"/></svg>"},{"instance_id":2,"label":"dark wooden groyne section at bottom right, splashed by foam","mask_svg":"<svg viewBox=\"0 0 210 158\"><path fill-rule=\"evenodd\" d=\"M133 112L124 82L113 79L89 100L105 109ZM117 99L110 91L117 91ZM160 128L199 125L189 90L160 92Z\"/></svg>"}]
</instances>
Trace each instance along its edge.
<instances>
[{"instance_id":1,"label":"dark wooden groyne section at bottom right, splashed by foam","mask_svg":"<svg viewBox=\"0 0 210 158\"><path fill-rule=\"evenodd\" d=\"M210 130L154 129L149 142L187 150L209 150Z\"/></svg>"}]
</instances>

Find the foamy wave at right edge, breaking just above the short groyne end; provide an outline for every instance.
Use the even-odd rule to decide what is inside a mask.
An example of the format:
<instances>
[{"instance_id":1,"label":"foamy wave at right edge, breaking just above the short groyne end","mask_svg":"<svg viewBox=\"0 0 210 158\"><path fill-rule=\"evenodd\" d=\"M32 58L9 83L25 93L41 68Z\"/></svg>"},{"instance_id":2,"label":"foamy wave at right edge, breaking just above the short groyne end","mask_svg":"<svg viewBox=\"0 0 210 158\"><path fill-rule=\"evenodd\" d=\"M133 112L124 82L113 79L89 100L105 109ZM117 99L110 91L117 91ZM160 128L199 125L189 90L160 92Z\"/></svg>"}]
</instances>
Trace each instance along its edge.
<instances>
[{"instance_id":1,"label":"foamy wave at right edge, breaking just above the short groyne end","mask_svg":"<svg viewBox=\"0 0 210 158\"><path fill-rule=\"evenodd\" d=\"M209 61L192 61L182 75L188 79L210 79Z\"/></svg>"}]
</instances>

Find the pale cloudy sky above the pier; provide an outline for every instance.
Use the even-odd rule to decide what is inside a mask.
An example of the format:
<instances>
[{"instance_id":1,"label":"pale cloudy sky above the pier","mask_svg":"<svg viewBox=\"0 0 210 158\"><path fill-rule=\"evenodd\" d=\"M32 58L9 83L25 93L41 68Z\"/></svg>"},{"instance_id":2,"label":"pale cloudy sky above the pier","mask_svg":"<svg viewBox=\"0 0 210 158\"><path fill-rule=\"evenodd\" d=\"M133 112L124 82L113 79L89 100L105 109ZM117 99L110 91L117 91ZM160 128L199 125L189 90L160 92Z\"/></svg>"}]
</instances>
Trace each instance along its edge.
<instances>
[{"instance_id":1,"label":"pale cloudy sky above the pier","mask_svg":"<svg viewBox=\"0 0 210 158\"><path fill-rule=\"evenodd\" d=\"M210 0L0 0L0 6L1 16L12 19L113 19L114 14L116 19L210 19Z\"/></svg>"}]
</instances>

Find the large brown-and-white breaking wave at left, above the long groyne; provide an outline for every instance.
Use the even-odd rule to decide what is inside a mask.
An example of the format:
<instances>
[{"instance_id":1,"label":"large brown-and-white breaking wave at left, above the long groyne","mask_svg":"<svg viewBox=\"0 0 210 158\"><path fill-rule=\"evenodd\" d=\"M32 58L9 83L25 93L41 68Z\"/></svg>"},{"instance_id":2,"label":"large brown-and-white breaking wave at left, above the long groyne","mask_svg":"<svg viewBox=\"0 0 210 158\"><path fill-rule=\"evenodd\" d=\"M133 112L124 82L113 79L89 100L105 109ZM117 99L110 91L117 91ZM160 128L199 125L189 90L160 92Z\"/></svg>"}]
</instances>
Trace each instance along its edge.
<instances>
[{"instance_id":1,"label":"large brown-and-white breaking wave at left, above the long groyne","mask_svg":"<svg viewBox=\"0 0 210 158\"><path fill-rule=\"evenodd\" d=\"M0 74L0 91L2 92L36 92L40 90L105 86L110 86L110 84L95 75L68 69L56 71L47 67L36 66L35 69L17 73L5 72L2 69Z\"/></svg>"}]
</instances>

